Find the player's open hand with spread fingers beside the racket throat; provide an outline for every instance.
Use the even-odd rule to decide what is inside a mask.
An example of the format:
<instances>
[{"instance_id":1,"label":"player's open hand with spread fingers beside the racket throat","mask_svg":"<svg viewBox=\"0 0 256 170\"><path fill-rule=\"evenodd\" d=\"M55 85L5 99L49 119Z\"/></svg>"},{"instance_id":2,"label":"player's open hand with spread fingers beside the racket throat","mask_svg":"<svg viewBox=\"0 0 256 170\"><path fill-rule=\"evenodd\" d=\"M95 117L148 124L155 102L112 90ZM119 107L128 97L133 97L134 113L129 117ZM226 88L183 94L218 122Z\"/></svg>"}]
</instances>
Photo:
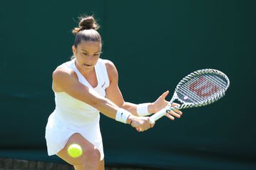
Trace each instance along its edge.
<instances>
[{"instance_id":1,"label":"player's open hand with spread fingers beside the racket throat","mask_svg":"<svg viewBox=\"0 0 256 170\"><path fill-rule=\"evenodd\" d=\"M158 97L155 102L153 102L152 109L153 112L158 112L159 110L163 109L166 105L168 105L168 101L165 100L165 97L169 94L169 91L164 92L160 97ZM179 105L178 103L173 102L172 106ZM174 120L175 117L180 118L180 116L183 115L183 112L180 110L172 110L168 112L165 116L169 119Z\"/></svg>"}]
</instances>

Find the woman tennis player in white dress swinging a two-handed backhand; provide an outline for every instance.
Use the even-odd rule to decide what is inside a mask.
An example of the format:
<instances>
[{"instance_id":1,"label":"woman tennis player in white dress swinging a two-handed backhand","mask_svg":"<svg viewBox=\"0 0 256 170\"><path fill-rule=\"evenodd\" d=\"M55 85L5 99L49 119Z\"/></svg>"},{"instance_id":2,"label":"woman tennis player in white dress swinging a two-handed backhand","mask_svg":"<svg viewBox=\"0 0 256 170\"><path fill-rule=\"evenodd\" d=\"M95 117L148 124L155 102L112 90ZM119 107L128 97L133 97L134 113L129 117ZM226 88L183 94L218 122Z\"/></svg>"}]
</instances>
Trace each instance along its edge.
<instances>
[{"instance_id":1,"label":"woman tennis player in white dress swinging a two-handed backhand","mask_svg":"<svg viewBox=\"0 0 256 170\"><path fill-rule=\"evenodd\" d=\"M97 28L93 16L81 18L79 27L73 29L73 57L53 71L56 108L46 125L48 155L57 154L76 170L104 169L99 112L143 132L154 126L145 116L168 103L168 91L152 103L135 105L123 100L115 65L100 58L102 43ZM182 112L176 110L167 117L174 119L180 115ZM67 152L74 143L83 150L76 158Z\"/></svg>"}]
</instances>

